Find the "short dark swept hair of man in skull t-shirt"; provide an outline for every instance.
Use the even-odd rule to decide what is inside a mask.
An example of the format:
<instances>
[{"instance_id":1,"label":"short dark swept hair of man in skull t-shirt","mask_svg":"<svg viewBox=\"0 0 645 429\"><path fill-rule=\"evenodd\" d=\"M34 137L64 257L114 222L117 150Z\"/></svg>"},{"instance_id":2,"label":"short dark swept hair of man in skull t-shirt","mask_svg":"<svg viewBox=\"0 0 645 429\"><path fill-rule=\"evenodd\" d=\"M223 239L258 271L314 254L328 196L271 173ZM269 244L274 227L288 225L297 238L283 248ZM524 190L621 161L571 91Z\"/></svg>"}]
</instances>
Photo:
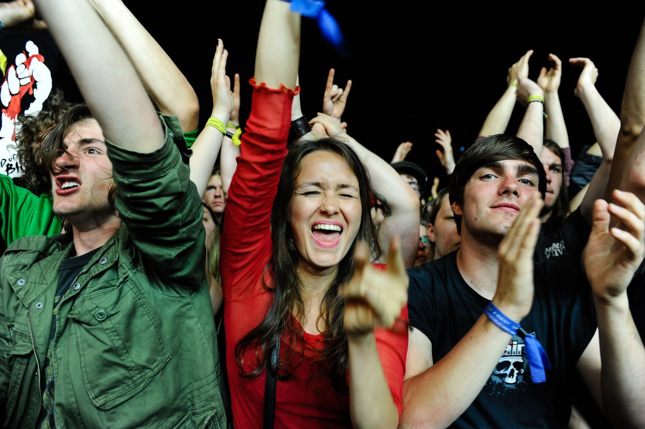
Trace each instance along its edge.
<instances>
[{"instance_id":1,"label":"short dark swept hair of man in skull t-shirt","mask_svg":"<svg viewBox=\"0 0 645 429\"><path fill-rule=\"evenodd\" d=\"M477 169L504 160L523 160L532 164L537 169L537 189L544 199L546 173L544 173L540 158L535 155L531 145L519 137L495 134L475 142L457 161L448 188L450 189L450 205L456 202L461 207L464 206L466 184ZM457 224L457 233L461 234L461 216L455 214L455 223Z\"/></svg>"}]
</instances>

